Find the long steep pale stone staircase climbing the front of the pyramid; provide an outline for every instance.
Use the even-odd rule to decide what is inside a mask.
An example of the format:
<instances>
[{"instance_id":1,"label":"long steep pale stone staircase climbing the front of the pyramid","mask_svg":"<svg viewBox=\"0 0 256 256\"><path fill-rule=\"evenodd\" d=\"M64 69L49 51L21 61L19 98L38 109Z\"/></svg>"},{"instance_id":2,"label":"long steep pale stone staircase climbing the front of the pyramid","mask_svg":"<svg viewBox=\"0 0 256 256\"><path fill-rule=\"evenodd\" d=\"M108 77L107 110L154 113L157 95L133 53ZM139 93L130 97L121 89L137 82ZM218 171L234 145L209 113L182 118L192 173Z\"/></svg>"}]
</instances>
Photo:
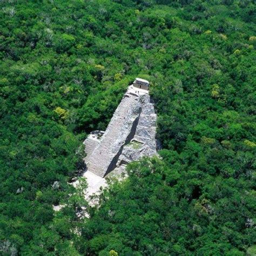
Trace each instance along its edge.
<instances>
[{"instance_id":1,"label":"long steep pale stone staircase climbing the front of the pyramid","mask_svg":"<svg viewBox=\"0 0 256 256\"><path fill-rule=\"evenodd\" d=\"M86 156L87 170L104 177L116 167L118 154L129 136L132 125L139 113L133 113L137 105L137 96L126 94L117 107L100 144L88 147L90 156ZM137 114L137 116L136 116ZM92 154L93 152L93 154Z\"/></svg>"}]
</instances>

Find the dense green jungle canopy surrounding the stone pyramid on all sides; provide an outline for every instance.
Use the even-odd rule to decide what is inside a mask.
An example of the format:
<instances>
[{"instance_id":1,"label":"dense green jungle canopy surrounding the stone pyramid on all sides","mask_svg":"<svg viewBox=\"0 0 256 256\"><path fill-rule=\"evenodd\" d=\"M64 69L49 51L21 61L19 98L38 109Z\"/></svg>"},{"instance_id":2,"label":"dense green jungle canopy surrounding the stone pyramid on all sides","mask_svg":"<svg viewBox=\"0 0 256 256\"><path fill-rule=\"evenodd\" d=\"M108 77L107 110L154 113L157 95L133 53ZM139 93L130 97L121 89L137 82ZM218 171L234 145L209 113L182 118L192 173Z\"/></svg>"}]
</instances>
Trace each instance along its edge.
<instances>
[{"instance_id":1,"label":"dense green jungle canopy surrounding the stone pyramid on all sides","mask_svg":"<svg viewBox=\"0 0 256 256\"><path fill-rule=\"evenodd\" d=\"M253 0L2 1L0 254L254 255L255 22ZM79 220L80 145L134 77L161 159Z\"/></svg>"}]
</instances>

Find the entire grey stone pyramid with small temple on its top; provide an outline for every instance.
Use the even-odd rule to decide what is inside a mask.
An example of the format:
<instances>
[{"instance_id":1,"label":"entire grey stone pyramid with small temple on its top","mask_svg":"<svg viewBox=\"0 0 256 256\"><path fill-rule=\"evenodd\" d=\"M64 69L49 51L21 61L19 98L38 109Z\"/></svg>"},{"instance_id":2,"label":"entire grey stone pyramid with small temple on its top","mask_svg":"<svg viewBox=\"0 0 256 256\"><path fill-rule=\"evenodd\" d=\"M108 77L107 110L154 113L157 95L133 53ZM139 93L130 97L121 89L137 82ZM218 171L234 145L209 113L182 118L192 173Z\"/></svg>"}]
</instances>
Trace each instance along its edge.
<instances>
[{"instance_id":1,"label":"entire grey stone pyramid with small temple on its top","mask_svg":"<svg viewBox=\"0 0 256 256\"><path fill-rule=\"evenodd\" d=\"M105 177L143 156L157 154L156 119L149 82L136 78L113 114L106 131L94 131L84 141L87 172Z\"/></svg>"}]
</instances>

